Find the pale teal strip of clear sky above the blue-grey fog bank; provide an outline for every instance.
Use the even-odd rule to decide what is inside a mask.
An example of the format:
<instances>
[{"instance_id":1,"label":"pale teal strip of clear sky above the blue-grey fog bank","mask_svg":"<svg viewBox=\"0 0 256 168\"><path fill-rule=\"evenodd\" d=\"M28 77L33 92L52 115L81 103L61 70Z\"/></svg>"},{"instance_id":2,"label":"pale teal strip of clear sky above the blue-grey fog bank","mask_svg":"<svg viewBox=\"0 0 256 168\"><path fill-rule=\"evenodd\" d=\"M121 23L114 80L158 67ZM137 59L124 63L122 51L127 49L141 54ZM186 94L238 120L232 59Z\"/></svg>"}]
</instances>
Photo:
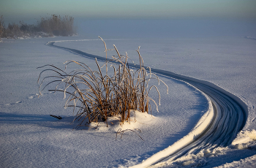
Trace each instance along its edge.
<instances>
[{"instance_id":1,"label":"pale teal strip of clear sky above the blue-grey fog bank","mask_svg":"<svg viewBox=\"0 0 256 168\"><path fill-rule=\"evenodd\" d=\"M4 20L74 18L256 18L255 0L0 0Z\"/></svg>"}]
</instances>

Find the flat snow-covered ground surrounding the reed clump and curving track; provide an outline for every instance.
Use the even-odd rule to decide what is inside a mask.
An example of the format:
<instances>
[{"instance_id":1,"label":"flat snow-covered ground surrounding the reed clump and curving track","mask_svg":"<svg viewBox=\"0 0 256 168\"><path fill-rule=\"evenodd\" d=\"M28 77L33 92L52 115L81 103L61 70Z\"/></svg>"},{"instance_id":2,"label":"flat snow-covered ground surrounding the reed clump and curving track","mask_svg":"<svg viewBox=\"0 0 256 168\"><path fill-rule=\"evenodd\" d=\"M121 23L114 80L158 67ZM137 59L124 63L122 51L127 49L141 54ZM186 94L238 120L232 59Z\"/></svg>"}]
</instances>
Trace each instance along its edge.
<instances>
[{"instance_id":1,"label":"flat snow-covered ground surrounding the reed clump and curving track","mask_svg":"<svg viewBox=\"0 0 256 168\"><path fill-rule=\"evenodd\" d=\"M103 37L104 38L104 37ZM72 109L64 110L63 94L43 92L38 98L37 67L64 61L82 61L94 67L93 59L45 43L105 56L102 41L95 37L3 39L0 42L0 167L129 167L173 145L189 134L208 111L208 99L192 85L161 76L169 86L159 85L161 106L152 115L120 127L73 130ZM256 40L246 37L208 39L105 39L120 53L138 61L140 47L144 64L156 69L206 80L243 100L249 115L236 140L225 148L202 150L155 167L255 167L256 158ZM113 53L109 53L111 56ZM157 94L152 92L151 96ZM60 115L61 120L50 117ZM143 119L144 118L144 119Z\"/></svg>"}]
</instances>

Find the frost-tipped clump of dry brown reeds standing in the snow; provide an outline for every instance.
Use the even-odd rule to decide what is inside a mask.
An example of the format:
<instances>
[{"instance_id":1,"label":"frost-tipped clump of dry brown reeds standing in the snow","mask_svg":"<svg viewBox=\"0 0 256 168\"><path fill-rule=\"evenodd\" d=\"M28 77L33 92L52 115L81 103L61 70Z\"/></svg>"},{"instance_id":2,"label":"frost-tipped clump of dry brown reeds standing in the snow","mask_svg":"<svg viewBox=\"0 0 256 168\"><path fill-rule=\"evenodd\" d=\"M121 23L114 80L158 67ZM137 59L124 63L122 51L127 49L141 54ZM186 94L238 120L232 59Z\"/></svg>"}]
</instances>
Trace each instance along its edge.
<instances>
[{"instance_id":1,"label":"frost-tipped clump of dry brown reeds standing in the snow","mask_svg":"<svg viewBox=\"0 0 256 168\"><path fill-rule=\"evenodd\" d=\"M103 39L102 42L104 42ZM127 53L126 56L121 56L114 45L113 50L116 50L117 56L112 56L112 61L115 61L118 67L113 66L113 64L110 65L110 68L113 69L112 75L109 75L108 71L110 61L107 58L108 49L106 45L105 64L99 66L97 58L95 58L97 71L78 61L67 61L65 63L65 69L69 64L79 66L79 69L69 73L53 65L42 66L40 68L46 69L39 75L39 92L41 93L46 87L54 84L55 88L48 91L64 93L64 97L67 97L65 107L73 107L73 112L75 112L74 121L79 121L78 126L89 126L89 123L98 123L99 121L104 121L108 126L108 118L113 116L118 118L120 124L124 121L130 121L131 110L148 112L151 110L150 102L154 102L157 106L154 99L148 96L152 88L159 94L160 104L160 93L157 86L151 85L149 87L148 84L152 79L157 80L158 83L162 80L151 73L150 69L149 72L146 71L139 49L137 51L140 69L130 69L127 62ZM104 66L105 74L102 73ZM45 72L49 71L53 72L53 75L42 77Z\"/></svg>"}]
</instances>

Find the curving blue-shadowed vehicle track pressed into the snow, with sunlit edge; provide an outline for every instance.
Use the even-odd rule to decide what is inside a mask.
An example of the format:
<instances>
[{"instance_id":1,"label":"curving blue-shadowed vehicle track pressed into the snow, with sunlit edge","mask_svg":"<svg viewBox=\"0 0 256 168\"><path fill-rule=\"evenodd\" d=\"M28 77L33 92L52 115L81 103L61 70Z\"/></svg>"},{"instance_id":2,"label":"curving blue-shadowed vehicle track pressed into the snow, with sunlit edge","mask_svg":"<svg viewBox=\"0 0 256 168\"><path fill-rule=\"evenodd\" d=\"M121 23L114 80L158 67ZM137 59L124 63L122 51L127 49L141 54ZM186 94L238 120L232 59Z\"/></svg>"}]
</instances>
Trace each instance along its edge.
<instances>
[{"instance_id":1,"label":"curving blue-shadowed vehicle track pressed into the snow, with sunlit edge","mask_svg":"<svg viewBox=\"0 0 256 168\"><path fill-rule=\"evenodd\" d=\"M48 42L46 45L67 50L71 53L86 58L97 58L97 60L106 61L106 58L100 56L94 56L80 50L60 47L53 44L54 42ZM108 59L108 61L110 61L110 59ZM139 67L138 65L132 64L129 64L129 66L135 68ZM194 129L183 139L179 140L165 150L154 154L154 156L146 159L146 161L143 161L143 163L135 165L135 167L149 167L154 164L159 164L162 161L175 160L186 153L196 154L203 149L211 150L212 148L217 148L218 146L225 147L230 145L230 143L236 137L238 131L243 129L246 123L248 110L246 104L237 96L207 81L177 75L173 72L168 72L161 69L151 69L151 72L184 81L185 83L189 83L205 93L210 104L212 105L211 112L208 112L208 116L205 117L203 123L198 126L200 129Z\"/></svg>"}]
</instances>

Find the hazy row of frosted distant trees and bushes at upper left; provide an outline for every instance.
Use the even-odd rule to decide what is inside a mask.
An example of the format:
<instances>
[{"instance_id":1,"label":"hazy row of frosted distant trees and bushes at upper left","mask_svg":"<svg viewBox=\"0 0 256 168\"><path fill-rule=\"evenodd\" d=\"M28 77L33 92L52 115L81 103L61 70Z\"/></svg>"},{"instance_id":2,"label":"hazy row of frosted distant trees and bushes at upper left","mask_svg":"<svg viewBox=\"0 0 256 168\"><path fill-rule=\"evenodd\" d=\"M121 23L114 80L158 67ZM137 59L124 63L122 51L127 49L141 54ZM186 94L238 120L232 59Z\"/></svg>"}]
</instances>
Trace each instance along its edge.
<instances>
[{"instance_id":1,"label":"hazy row of frosted distant trees and bushes at upper left","mask_svg":"<svg viewBox=\"0 0 256 168\"><path fill-rule=\"evenodd\" d=\"M19 24L9 23L4 26L4 18L0 17L0 39L18 37L53 37L75 35L74 18L65 15L51 15L50 18L41 18L37 24L26 24L20 21Z\"/></svg>"}]
</instances>

